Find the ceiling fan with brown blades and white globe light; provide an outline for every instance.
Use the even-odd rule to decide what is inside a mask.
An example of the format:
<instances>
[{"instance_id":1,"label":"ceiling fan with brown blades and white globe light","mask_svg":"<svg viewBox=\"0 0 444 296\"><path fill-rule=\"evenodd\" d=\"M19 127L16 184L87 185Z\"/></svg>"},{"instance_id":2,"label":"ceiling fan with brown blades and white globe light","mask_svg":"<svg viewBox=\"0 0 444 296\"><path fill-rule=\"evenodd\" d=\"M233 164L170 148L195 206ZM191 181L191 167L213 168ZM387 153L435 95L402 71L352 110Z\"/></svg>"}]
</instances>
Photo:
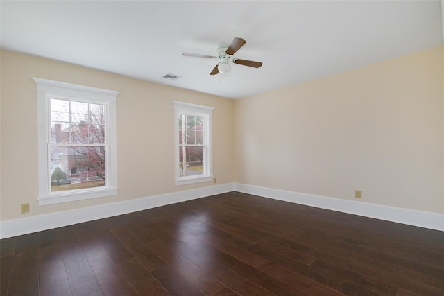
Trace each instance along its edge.
<instances>
[{"instance_id":1,"label":"ceiling fan with brown blades and white globe light","mask_svg":"<svg viewBox=\"0 0 444 296\"><path fill-rule=\"evenodd\" d=\"M182 55L195 58L210 58L213 60L218 60L219 62L216 64L216 67L214 67L213 71L210 72L210 75L215 75L217 73L229 73L230 63L241 64L253 68L261 67L262 62L255 62L253 60L241 60L232 57L232 55L234 55L236 51L244 46L244 44L246 44L246 41L244 39L236 37L231 42L230 46L219 46L219 48L217 49L217 56L201 55L199 53L182 53Z\"/></svg>"}]
</instances>

